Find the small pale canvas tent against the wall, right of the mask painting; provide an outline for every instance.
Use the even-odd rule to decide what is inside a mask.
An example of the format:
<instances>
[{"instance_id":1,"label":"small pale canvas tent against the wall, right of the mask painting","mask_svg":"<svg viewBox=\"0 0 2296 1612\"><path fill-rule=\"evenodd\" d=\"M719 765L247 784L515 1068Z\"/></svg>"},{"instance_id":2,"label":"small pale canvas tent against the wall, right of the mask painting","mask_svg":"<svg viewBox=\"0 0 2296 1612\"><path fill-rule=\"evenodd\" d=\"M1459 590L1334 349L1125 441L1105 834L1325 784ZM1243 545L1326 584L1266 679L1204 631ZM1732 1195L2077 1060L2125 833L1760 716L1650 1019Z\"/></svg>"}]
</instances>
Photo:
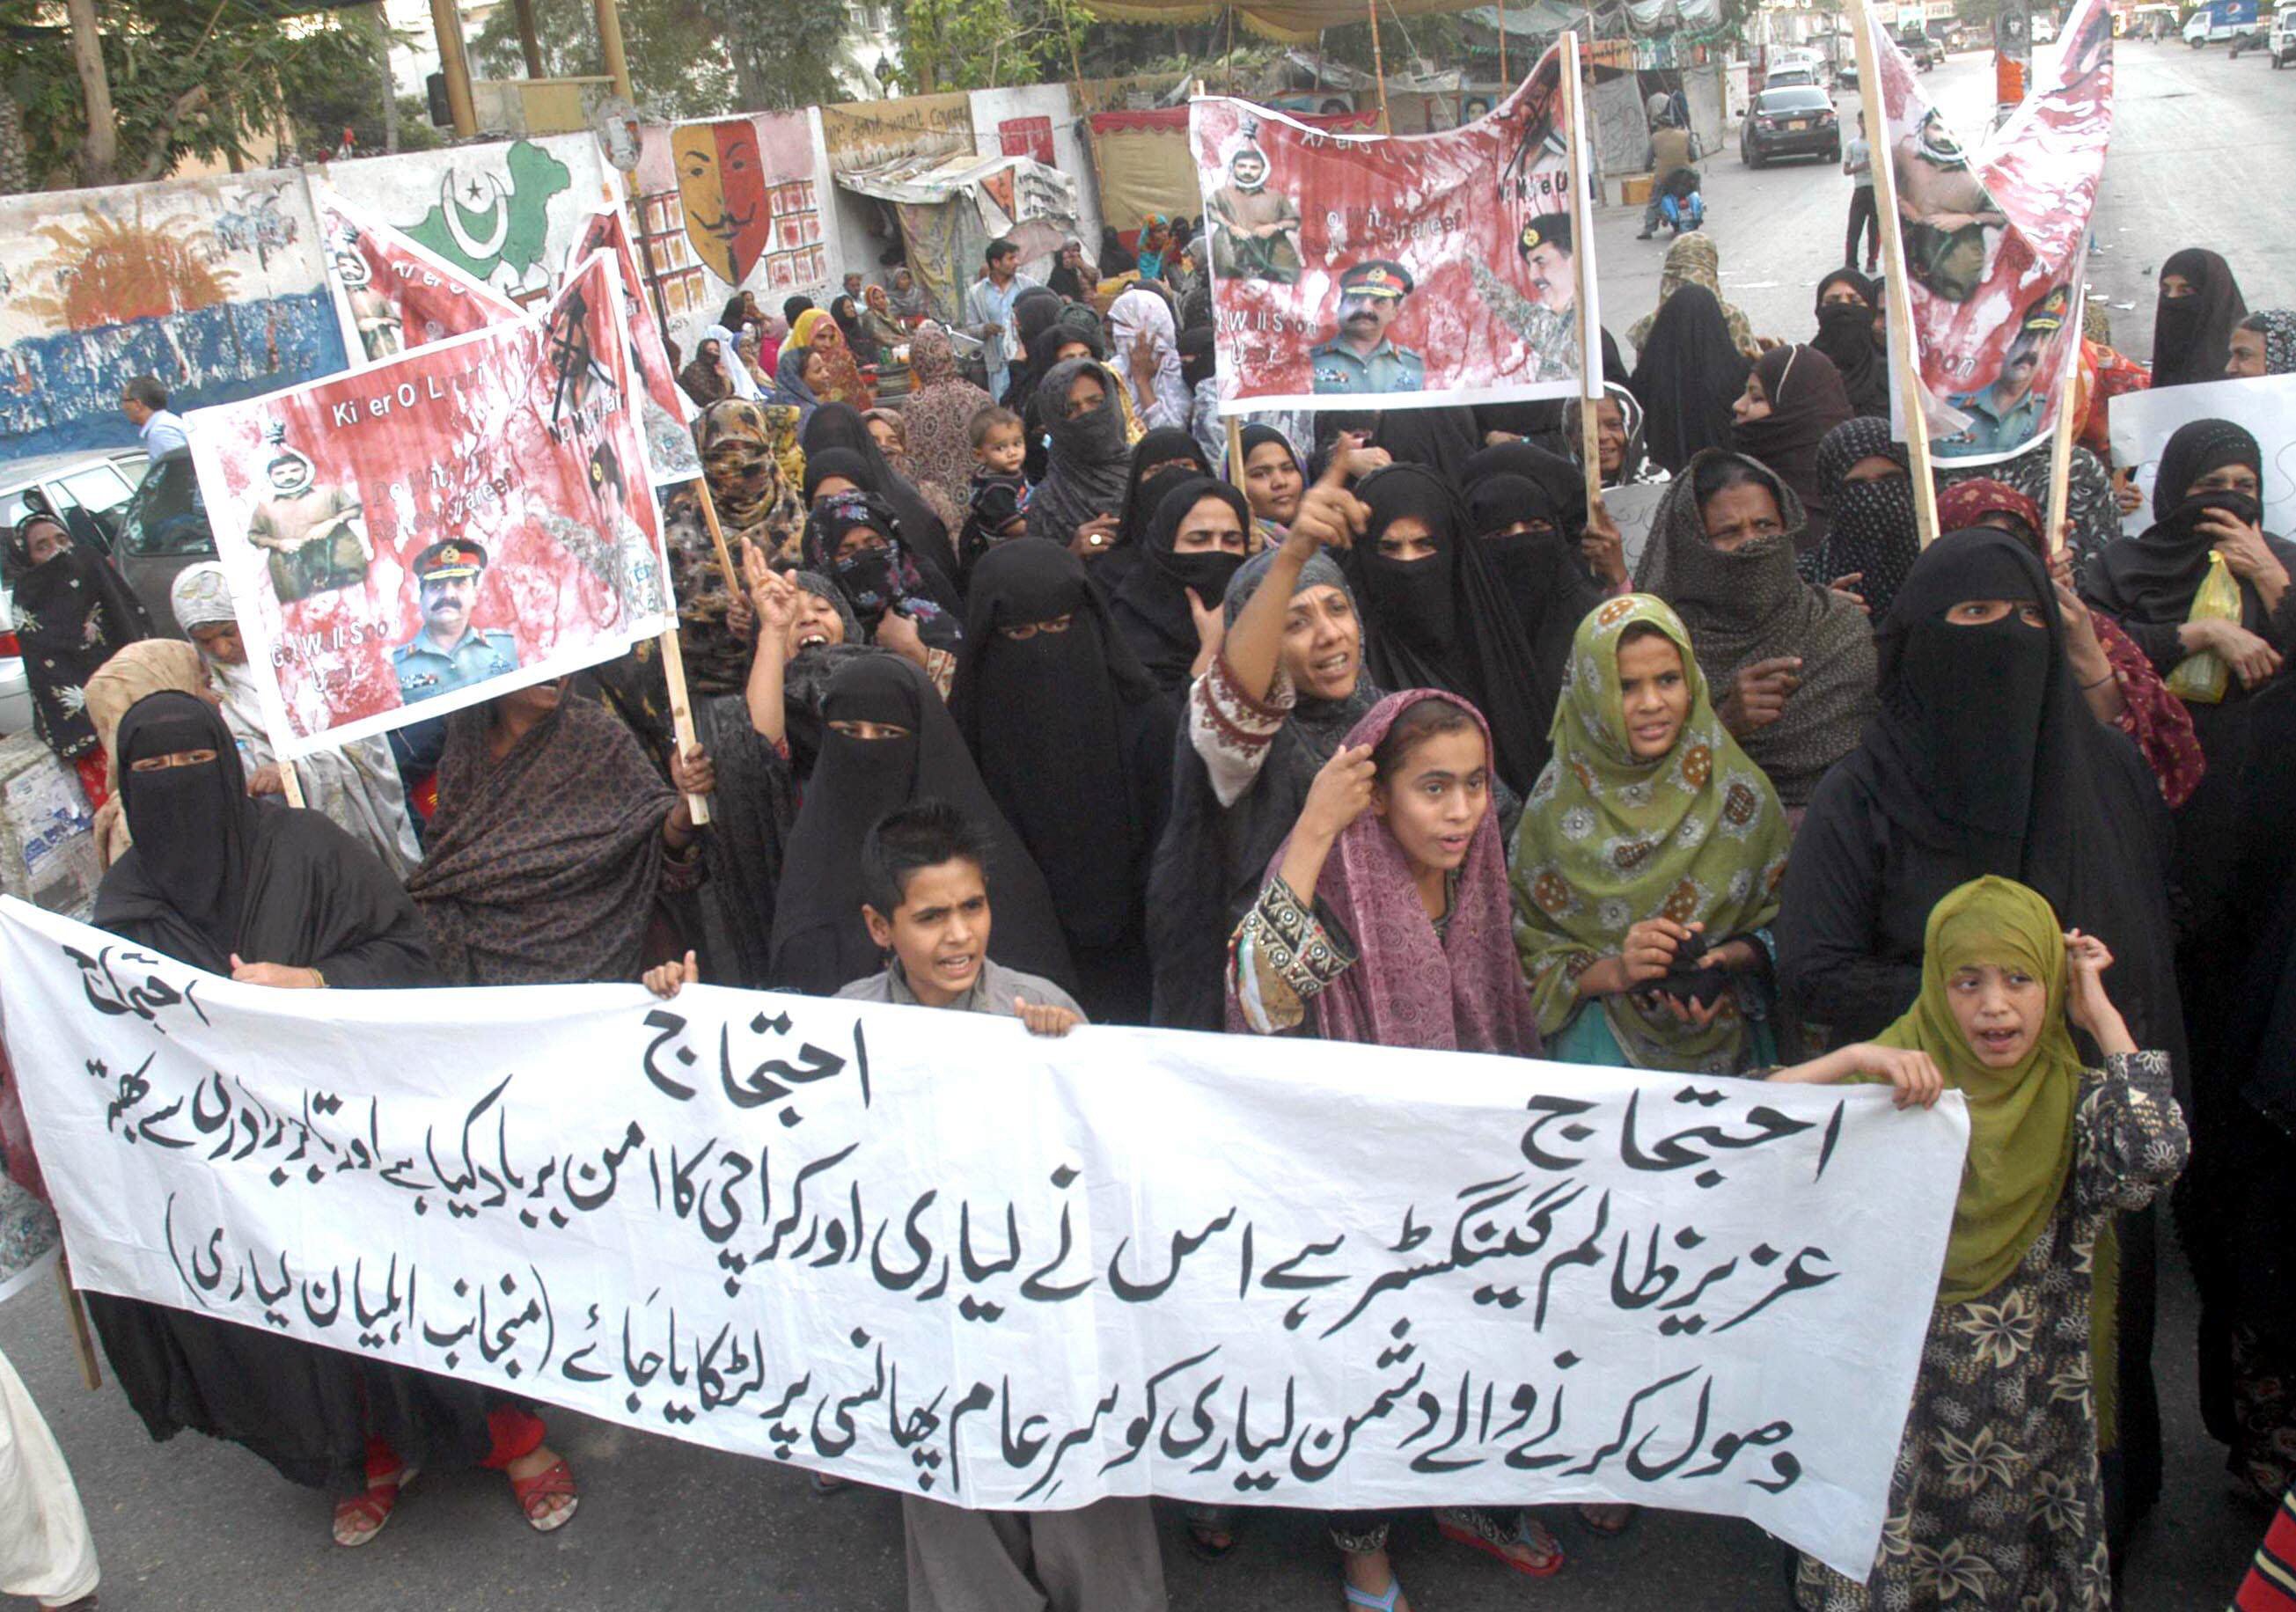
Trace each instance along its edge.
<instances>
[{"instance_id":1,"label":"small pale canvas tent against the wall, right of the mask painting","mask_svg":"<svg viewBox=\"0 0 2296 1612\"><path fill-rule=\"evenodd\" d=\"M1006 237L1024 266L1040 266L1077 230L1077 181L1033 156L902 156L836 179L893 207L909 271L951 324L964 312L964 287L990 241Z\"/></svg>"}]
</instances>

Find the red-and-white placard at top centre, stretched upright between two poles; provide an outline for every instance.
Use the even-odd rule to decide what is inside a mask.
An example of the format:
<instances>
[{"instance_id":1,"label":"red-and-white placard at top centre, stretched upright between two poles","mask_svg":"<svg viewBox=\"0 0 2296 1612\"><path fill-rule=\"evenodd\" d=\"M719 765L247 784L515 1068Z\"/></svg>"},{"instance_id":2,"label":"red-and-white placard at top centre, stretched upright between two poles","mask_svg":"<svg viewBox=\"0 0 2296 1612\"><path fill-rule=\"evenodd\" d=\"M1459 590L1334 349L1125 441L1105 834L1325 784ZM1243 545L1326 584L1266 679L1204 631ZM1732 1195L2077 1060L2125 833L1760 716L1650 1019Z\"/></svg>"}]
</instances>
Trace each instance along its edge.
<instances>
[{"instance_id":1,"label":"red-and-white placard at top centre, stretched upright between two poles","mask_svg":"<svg viewBox=\"0 0 2296 1612\"><path fill-rule=\"evenodd\" d=\"M1345 135L1189 106L1221 413L1568 397L1580 374L1564 53L1488 117Z\"/></svg>"}]
</instances>

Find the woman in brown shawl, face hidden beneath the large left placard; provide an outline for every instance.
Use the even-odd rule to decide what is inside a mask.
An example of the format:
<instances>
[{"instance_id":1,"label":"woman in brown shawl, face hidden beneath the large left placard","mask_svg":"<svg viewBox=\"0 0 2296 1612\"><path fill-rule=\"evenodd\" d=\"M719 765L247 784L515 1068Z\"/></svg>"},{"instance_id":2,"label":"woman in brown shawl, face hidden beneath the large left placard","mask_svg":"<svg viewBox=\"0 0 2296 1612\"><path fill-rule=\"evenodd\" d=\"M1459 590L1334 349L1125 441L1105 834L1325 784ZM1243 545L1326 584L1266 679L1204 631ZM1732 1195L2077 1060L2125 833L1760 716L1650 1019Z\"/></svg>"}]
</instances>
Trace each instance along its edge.
<instances>
[{"instance_id":1,"label":"woman in brown shawl, face hidden beneath the large left placard","mask_svg":"<svg viewBox=\"0 0 2296 1612\"><path fill-rule=\"evenodd\" d=\"M540 682L445 719L429 850L406 882L448 985L636 981L654 898L700 879L687 795L716 785L700 746L673 785L629 728Z\"/></svg>"}]
</instances>

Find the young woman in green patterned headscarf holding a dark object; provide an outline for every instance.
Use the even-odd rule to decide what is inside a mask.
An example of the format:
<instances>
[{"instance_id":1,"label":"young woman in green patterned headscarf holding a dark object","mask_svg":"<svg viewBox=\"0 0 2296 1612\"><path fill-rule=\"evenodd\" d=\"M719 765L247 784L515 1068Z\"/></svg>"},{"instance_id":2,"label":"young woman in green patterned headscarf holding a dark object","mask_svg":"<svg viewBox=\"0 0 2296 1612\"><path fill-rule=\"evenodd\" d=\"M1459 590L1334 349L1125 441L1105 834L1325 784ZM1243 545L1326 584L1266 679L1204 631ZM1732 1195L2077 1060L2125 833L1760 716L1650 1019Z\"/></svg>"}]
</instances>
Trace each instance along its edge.
<instances>
[{"instance_id":1,"label":"young woman in green patterned headscarf holding a dark object","mask_svg":"<svg viewBox=\"0 0 2296 1612\"><path fill-rule=\"evenodd\" d=\"M1715 716L1690 629L1630 592L1580 622L1515 831L1515 953L1545 1056L1745 1075L1775 1061L1786 813Z\"/></svg>"}]
</instances>

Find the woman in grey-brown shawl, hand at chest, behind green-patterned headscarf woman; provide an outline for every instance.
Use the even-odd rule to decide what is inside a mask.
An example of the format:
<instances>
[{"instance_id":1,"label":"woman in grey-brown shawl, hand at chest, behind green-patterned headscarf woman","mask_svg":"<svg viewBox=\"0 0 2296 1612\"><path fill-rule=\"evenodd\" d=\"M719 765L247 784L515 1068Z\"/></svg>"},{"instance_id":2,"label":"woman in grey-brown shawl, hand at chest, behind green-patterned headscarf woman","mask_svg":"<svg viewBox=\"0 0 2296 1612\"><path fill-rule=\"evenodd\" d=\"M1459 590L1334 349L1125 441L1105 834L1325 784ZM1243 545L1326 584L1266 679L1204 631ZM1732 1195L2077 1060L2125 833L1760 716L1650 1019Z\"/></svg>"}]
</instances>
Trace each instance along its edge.
<instances>
[{"instance_id":1,"label":"woman in grey-brown shawl, hand at chest, behind green-patterned headscarf woman","mask_svg":"<svg viewBox=\"0 0 2296 1612\"><path fill-rule=\"evenodd\" d=\"M1667 487L1635 592L1690 627L1715 714L1800 824L1818 778L1874 714L1874 629L1793 569L1802 501L1745 455L1708 448Z\"/></svg>"}]
</instances>

